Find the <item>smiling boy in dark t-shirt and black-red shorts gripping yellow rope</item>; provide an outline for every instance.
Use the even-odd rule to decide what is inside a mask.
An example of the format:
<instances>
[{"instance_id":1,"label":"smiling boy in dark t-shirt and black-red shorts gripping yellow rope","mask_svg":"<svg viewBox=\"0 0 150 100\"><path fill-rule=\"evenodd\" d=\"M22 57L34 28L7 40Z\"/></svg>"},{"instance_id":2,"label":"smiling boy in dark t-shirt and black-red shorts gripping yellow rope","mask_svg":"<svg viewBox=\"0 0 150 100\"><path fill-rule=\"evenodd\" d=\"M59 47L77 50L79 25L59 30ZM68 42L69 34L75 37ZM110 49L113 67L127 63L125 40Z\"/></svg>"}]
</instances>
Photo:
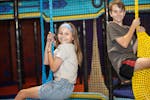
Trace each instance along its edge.
<instances>
[{"instance_id":1,"label":"smiling boy in dark t-shirt and black-red shorts gripping yellow rope","mask_svg":"<svg viewBox=\"0 0 150 100\"><path fill-rule=\"evenodd\" d=\"M125 6L120 0L114 0L109 5L110 21L107 26L107 49L109 59L122 80L130 80L133 72L150 67L150 58L136 56L137 40L134 32L140 25L140 19L134 19L131 26L123 24L126 14ZM145 31L139 26L139 32Z\"/></svg>"}]
</instances>

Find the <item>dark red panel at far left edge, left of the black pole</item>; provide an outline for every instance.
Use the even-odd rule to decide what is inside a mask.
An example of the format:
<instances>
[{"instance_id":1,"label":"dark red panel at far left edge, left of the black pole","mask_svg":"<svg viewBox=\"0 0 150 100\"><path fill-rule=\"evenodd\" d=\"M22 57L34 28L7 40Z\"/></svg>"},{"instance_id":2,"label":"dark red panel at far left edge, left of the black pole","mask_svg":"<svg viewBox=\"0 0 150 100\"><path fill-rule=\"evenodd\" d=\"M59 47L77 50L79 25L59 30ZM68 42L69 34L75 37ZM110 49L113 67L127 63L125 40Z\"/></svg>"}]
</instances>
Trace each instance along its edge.
<instances>
[{"instance_id":1,"label":"dark red panel at far left edge, left of the black pole","mask_svg":"<svg viewBox=\"0 0 150 100\"><path fill-rule=\"evenodd\" d=\"M9 22L0 21L0 84L11 81Z\"/></svg>"}]
</instances>

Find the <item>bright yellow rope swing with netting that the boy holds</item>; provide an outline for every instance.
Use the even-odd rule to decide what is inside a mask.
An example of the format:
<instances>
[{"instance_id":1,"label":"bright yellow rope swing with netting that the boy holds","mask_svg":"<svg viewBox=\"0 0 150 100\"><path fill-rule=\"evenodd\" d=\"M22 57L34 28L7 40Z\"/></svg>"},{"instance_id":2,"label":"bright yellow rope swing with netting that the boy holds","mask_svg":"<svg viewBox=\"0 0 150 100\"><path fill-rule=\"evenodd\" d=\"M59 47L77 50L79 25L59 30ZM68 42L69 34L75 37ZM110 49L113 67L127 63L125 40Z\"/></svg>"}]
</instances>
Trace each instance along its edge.
<instances>
[{"instance_id":1,"label":"bright yellow rope swing with netting that the boy holds","mask_svg":"<svg viewBox=\"0 0 150 100\"><path fill-rule=\"evenodd\" d=\"M135 0L135 18L139 17L138 0ZM146 32L137 32L137 56L150 58L150 36ZM135 100L149 100L150 98L150 68L134 72L132 88Z\"/></svg>"}]
</instances>

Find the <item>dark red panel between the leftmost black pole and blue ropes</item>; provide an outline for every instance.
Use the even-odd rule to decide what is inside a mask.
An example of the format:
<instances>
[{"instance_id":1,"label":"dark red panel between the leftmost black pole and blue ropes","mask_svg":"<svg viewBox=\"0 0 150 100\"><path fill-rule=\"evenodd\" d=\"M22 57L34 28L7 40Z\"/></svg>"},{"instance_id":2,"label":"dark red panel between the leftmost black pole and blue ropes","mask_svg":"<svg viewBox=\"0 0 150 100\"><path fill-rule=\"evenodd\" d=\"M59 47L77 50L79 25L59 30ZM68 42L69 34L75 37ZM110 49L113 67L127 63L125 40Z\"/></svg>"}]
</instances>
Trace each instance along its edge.
<instances>
[{"instance_id":1,"label":"dark red panel between the leftmost black pole and blue ropes","mask_svg":"<svg viewBox=\"0 0 150 100\"><path fill-rule=\"evenodd\" d=\"M21 20L21 34L22 34L22 48L23 48L23 70L26 77L35 77L36 68L40 66L36 66L35 59L35 36L34 36L34 22L37 23L37 52L38 52L38 63L41 65L41 54L39 52L40 48L40 31L39 31L39 21L38 20ZM40 73L39 73L40 74Z\"/></svg>"}]
</instances>

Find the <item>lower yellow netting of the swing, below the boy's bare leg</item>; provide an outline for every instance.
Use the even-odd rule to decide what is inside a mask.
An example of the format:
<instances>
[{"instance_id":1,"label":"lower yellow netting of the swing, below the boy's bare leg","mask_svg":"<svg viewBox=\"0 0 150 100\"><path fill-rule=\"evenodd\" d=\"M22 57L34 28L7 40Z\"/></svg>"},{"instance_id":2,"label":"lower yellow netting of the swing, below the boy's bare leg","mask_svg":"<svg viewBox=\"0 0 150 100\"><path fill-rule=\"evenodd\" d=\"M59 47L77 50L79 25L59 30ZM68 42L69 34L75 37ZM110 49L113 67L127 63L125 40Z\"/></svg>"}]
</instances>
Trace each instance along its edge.
<instances>
[{"instance_id":1,"label":"lower yellow netting of the swing, below the boy's bare leg","mask_svg":"<svg viewBox=\"0 0 150 100\"><path fill-rule=\"evenodd\" d=\"M132 87L136 100L150 99L150 68L134 72Z\"/></svg>"}]
</instances>

